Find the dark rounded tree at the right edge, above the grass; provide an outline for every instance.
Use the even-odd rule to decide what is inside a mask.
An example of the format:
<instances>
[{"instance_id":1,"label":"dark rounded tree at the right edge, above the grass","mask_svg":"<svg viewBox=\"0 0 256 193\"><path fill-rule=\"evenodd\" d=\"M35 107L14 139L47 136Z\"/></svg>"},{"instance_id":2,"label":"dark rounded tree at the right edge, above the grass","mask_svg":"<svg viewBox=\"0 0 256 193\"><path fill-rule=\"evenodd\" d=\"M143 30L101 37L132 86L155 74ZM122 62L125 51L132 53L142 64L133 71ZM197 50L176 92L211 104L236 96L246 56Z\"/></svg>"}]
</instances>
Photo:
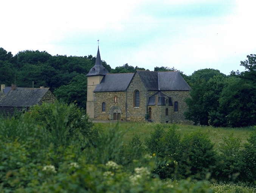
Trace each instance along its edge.
<instances>
[{"instance_id":1,"label":"dark rounded tree at the right edge, above the grass","mask_svg":"<svg viewBox=\"0 0 256 193\"><path fill-rule=\"evenodd\" d=\"M245 127L256 124L256 87L244 79L232 77L219 98L219 111L225 118L225 125Z\"/></svg>"}]
</instances>

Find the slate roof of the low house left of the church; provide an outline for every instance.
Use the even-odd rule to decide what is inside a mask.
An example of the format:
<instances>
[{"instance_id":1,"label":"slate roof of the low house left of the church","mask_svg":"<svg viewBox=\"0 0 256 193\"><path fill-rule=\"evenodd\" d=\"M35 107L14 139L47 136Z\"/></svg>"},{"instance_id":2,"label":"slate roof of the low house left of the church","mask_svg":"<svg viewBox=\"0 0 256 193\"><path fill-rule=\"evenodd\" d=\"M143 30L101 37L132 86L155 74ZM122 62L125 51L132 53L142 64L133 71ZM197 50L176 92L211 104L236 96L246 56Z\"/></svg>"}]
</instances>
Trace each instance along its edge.
<instances>
[{"instance_id":1,"label":"slate roof of the low house left of the church","mask_svg":"<svg viewBox=\"0 0 256 193\"><path fill-rule=\"evenodd\" d=\"M0 101L0 107L30 107L43 98L49 88L16 88Z\"/></svg>"}]
</instances>

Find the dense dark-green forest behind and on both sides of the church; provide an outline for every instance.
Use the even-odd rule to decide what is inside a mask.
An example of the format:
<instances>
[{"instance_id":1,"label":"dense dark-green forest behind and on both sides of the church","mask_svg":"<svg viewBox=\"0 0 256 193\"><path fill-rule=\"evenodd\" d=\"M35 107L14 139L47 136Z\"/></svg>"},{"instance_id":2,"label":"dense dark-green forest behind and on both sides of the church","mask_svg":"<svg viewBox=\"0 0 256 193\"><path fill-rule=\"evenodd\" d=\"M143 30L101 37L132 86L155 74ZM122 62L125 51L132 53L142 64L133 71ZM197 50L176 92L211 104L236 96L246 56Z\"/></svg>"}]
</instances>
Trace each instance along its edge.
<instances>
[{"instance_id":1,"label":"dense dark-green forest behind and on both sides of the church","mask_svg":"<svg viewBox=\"0 0 256 193\"><path fill-rule=\"evenodd\" d=\"M0 48L0 84L18 87L45 86L65 103L77 103L86 108L87 78L96 57L66 55L52 56L46 51L20 51L16 55ZM106 61L102 65L110 73L146 70L128 64L112 69ZM239 63L237 64L239 65ZM244 72L222 74L216 69L200 69L183 78L192 87L191 98L186 100L187 119L195 124L224 127L244 127L256 124L256 55L247 55L240 61ZM175 71L174 67L155 67L154 71Z\"/></svg>"}]
</instances>

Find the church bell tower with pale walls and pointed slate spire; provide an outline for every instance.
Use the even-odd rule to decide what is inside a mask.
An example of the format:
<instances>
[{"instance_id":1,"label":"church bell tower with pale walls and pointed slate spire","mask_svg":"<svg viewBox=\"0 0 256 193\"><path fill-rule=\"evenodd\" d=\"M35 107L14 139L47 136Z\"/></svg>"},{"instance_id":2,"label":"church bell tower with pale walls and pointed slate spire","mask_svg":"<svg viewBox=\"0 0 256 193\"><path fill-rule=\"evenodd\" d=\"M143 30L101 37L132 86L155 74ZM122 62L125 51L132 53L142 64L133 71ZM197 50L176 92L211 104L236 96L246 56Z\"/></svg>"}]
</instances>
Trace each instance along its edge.
<instances>
[{"instance_id":1,"label":"church bell tower with pale walls and pointed slate spire","mask_svg":"<svg viewBox=\"0 0 256 193\"><path fill-rule=\"evenodd\" d=\"M86 112L89 115L90 119L94 119L94 95L93 91L96 88L97 84L101 83L102 78L109 73L107 69L101 64L101 55L98 52L96 56L95 65L90 69L87 76L87 103L86 103Z\"/></svg>"}]
</instances>

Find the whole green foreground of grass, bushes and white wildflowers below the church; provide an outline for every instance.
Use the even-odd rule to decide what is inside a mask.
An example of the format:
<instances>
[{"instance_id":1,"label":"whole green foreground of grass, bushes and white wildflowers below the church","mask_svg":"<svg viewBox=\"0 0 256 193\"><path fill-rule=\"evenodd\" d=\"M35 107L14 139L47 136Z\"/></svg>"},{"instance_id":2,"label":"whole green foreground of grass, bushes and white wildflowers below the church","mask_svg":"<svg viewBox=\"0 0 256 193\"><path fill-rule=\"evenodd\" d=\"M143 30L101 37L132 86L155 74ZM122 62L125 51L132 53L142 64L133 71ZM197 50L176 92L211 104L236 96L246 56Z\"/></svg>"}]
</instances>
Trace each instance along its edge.
<instances>
[{"instance_id":1,"label":"whole green foreground of grass, bushes and white wildflowers below the church","mask_svg":"<svg viewBox=\"0 0 256 193\"><path fill-rule=\"evenodd\" d=\"M253 127L92 123L43 104L0 120L0 193L253 193L255 144Z\"/></svg>"}]
</instances>

